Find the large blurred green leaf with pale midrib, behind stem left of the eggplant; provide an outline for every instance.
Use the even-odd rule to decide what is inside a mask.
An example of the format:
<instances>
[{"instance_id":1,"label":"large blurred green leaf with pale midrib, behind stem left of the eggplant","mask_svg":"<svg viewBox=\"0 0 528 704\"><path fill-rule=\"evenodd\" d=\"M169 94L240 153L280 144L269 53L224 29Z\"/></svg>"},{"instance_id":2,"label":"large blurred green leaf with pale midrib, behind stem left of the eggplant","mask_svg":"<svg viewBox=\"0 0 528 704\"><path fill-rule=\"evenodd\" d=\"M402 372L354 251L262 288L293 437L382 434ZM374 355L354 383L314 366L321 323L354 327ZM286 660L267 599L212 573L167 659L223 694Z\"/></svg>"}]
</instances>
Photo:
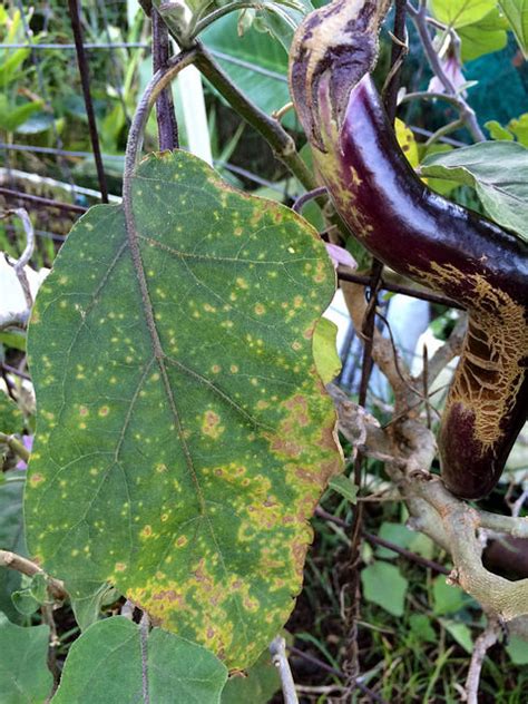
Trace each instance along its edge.
<instances>
[{"instance_id":1,"label":"large blurred green leaf with pale midrib, behind stem left of the eggplant","mask_svg":"<svg viewBox=\"0 0 528 704\"><path fill-rule=\"evenodd\" d=\"M270 115L290 102L287 55L268 35L250 29L238 37L236 17L227 16L204 32L203 39L233 82L264 113ZM293 113L282 123L293 127Z\"/></svg>"}]
</instances>

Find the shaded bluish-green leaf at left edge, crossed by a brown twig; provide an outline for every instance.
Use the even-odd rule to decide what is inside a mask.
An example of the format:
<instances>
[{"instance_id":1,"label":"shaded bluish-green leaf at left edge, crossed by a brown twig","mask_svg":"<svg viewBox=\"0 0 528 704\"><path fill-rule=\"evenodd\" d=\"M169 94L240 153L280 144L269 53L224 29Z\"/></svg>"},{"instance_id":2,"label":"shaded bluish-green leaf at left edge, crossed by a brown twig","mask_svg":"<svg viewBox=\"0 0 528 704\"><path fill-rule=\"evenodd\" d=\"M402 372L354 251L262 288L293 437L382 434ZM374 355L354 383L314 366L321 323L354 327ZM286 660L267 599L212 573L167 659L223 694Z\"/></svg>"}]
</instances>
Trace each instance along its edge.
<instances>
[{"instance_id":1,"label":"shaded bluish-green leaf at left edge, crossed by a brown twig","mask_svg":"<svg viewBox=\"0 0 528 704\"><path fill-rule=\"evenodd\" d=\"M14 470L18 473L18 470ZM11 472L13 473L13 472ZM20 472L23 478L25 472ZM0 548L28 557L23 537L23 481L0 485ZM0 610L11 620L20 619L11 602L11 594L20 588L21 575L14 569L0 568Z\"/></svg>"}]
</instances>

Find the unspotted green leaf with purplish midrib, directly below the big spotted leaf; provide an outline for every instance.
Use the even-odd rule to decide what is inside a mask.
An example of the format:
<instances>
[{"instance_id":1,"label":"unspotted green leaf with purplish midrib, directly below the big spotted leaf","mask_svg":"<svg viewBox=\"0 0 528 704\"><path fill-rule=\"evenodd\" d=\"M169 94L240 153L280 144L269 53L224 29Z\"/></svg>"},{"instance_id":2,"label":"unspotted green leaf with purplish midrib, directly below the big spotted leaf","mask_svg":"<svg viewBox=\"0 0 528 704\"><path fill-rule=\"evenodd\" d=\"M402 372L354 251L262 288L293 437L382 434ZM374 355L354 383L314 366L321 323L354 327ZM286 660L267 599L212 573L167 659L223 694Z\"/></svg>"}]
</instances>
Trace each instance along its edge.
<instances>
[{"instance_id":1,"label":"unspotted green leaf with purplish midrib, directly below the big spotted leaf","mask_svg":"<svg viewBox=\"0 0 528 704\"><path fill-rule=\"evenodd\" d=\"M225 665L196 643L160 628L153 628L141 643L136 624L114 616L94 624L74 643L51 701L144 702L146 690L153 704L218 704L226 679Z\"/></svg>"}]
</instances>

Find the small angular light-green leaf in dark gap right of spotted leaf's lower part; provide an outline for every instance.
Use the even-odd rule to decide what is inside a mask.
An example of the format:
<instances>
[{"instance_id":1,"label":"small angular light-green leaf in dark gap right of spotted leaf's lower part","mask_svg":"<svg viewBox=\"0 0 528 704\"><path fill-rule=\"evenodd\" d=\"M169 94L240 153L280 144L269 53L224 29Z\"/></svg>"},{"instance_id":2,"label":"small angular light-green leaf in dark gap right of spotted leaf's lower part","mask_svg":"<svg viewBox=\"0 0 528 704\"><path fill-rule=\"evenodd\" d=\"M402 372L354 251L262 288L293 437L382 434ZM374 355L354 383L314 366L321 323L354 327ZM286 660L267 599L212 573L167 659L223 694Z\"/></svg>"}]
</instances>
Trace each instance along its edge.
<instances>
[{"instance_id":1,"label":"small angular light-green leaf in dark gap right of spotted leaf's lower part","mask_svg":"<svg viewBox=\"0 0 528 704\"><path fill-rule=\"evenodd\" d=\"M377 560L361 573L363 596L368 602L378 604L392 614L402 616L409 581L395 565Z\"/></svg>"}]
</instances>

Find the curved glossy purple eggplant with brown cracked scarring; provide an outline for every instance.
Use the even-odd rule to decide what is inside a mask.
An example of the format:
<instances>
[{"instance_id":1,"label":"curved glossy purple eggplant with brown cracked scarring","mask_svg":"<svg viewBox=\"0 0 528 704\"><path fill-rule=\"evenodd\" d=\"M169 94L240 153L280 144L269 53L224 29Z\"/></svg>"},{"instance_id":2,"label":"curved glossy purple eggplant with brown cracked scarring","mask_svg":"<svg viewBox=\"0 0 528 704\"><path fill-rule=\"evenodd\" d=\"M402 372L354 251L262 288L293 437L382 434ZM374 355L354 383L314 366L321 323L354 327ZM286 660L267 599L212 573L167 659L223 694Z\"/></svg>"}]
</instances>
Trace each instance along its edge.
<instances>
[{"instance_id":1,"label":"curved glossy purple eggplant with brown cracked scarring","mask_svg":"<svg viewBox=\"0 0 528 704\"><path fill-rule=\"evenodd\" d=\"M438 444L447 487L478 499L496 486L526 420L528 245L434 194L409 166L370 77L382 4L336 0L326 14L310 14L292 43L291 90L321 178L354 236L469 312ZM324 31L327 16L346 28L349 82L343 32Z\"/></svg>"}]
</instances>

